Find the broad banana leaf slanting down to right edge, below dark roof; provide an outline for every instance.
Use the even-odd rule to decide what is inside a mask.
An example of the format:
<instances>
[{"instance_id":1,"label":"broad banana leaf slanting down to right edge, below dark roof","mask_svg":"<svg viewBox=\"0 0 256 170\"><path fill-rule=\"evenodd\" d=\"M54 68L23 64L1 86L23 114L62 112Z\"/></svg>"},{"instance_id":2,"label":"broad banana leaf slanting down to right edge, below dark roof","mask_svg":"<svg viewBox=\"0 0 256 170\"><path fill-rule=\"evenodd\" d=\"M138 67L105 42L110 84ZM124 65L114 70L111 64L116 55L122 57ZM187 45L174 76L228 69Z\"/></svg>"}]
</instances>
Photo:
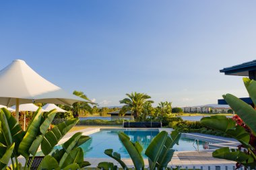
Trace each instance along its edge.
<instances>
[{"instance_id":1,"label":"broad banana leaf slanting down to right edge, below dark roof","mask_svg":"<svg viewBox=\"0 0 256 170\"><path fill-rule=\"evenodd\" d=\"M249 94L251 95L251 93ZM251 132L256 135L256 110L254 110L251 105L248 105L245 103L245 101L238 99L234 95L226 94L223 95L223 98L228 105L230 105L230 108L232 108L232 110L234 110L234 112L243 120L243 122L247 124L247 126L251 129Z\"/></svg>"}]
</instances>

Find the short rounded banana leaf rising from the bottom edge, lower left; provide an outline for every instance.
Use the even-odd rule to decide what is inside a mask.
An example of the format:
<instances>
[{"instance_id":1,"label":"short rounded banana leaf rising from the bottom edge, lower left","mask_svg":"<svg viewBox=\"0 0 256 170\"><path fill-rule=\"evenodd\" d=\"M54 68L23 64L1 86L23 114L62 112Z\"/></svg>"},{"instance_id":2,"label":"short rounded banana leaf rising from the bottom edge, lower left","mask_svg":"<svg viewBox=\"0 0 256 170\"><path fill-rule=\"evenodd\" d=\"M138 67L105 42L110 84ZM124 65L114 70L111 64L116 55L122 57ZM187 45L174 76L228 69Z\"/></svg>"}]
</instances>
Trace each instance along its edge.
<instances>
[{"instance_id":1,"label":"short rounded banana leaf rising from the bottom edge, lower left","mask_svg":"<svg viewBox=\"0 0 256 170\"><path fill-rule=\"evenodd\" d=\"M59 167L59 163L56 161L56 159L54 157L52 157L51 155L46 155L44 157L44 159L42 159L40 165L37 168L38 170L41 169L47 169L47 170L52 170L52 169L56 169L59 170L61 169Z\"/></svg>"}]
</instances>

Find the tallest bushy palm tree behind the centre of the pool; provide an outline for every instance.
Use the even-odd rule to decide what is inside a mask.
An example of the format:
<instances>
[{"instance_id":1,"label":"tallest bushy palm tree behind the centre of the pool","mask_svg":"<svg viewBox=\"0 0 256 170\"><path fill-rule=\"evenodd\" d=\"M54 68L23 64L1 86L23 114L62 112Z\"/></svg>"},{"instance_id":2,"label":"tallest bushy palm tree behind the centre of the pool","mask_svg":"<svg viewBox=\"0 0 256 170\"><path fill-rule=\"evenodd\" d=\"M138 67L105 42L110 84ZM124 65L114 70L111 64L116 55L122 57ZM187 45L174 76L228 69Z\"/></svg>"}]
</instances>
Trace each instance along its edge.
<instances>
[{"instance_id":1,"label":"tallest bushy palm tree behind the centre of the pool","mask_svg":"<svg viewBox=\"0 0 256 170\"><path fill-rule=\"evenodd\" d=\"M129 98L122 99L119 101L123 105L120 114L124 115L127 111L131 111L131 115L136 119L143 111L143 105L146 102L154 103L152 100L148 100L151 97L145 93L132 92L131 94L126 94Z\"/></svg>"}]
</instances>

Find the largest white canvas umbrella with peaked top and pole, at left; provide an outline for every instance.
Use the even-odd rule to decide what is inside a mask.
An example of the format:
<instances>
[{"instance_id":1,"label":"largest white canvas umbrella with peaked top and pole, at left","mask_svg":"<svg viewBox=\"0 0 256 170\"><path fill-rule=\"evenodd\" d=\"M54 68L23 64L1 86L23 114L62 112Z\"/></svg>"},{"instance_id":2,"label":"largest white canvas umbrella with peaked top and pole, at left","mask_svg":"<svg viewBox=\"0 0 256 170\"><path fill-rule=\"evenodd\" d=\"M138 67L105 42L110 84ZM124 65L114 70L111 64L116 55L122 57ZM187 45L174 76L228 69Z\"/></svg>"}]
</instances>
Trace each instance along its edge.
<instances>
[{"instance_id":1,"label":"largest white canvas umbrella with peaked top and pole, at left","mask_svg":"<svg viewBox=\"0 0 256 170\"><path fill-rule=\"evenodd\" d=\"M13 60L10 65L0 71L0 104L19 105L22 103L55 103L72 105L77 101L86 101L71 95L47 81L24 60ZM16 107L18 119L19 107Z\"/></svg>"}]
</instances>

